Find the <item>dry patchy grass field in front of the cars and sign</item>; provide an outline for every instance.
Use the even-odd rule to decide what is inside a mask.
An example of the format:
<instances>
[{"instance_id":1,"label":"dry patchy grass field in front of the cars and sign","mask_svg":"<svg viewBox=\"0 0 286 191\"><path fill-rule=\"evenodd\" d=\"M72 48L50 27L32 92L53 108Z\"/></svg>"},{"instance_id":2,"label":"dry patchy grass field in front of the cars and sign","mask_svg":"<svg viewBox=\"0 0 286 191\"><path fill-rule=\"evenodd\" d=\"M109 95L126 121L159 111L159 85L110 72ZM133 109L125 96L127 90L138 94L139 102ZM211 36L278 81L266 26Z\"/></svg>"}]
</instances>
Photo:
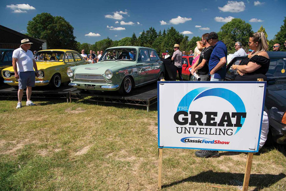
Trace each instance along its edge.
<instances>
[{"instance_id":1,"label":"dry patchy grass field in front of the cars and sign","mask_svg":"<svg viewBox=\"0 0 286 191\"><path fill-rule=\"evenodd\" d=\"M0 190L157 190L156 108L34 102L0 100ZM249 190L286 190L284 149L254 155ZM162 190L240 189L244 153L194 152L163 149Z\"/></svg>"}]
</instances>

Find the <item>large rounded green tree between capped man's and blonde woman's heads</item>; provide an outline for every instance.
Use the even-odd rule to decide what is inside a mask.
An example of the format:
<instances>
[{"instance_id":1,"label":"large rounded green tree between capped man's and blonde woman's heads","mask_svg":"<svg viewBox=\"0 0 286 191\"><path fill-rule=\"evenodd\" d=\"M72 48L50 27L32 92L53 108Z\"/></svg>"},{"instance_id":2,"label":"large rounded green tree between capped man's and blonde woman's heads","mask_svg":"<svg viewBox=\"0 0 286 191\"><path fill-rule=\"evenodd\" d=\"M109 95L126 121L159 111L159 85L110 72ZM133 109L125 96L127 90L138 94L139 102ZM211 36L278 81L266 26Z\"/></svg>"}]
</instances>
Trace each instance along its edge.
<instances>
[{"instance_id":1,"label":"large rounded green tree between capped man's and blonde woman's heads","mask_svg":"<svg viewBox=\"0 0 286 191\"><path fill-rule=\"evenodd\" d=\"M242 47L248 46L249 36L253 34L252 27L249 23L241 19L233 19L224 24L217 33L220 40L224 42L229 53L234 53L235 42L242 43Z\"/></svg>"}]
</instances>

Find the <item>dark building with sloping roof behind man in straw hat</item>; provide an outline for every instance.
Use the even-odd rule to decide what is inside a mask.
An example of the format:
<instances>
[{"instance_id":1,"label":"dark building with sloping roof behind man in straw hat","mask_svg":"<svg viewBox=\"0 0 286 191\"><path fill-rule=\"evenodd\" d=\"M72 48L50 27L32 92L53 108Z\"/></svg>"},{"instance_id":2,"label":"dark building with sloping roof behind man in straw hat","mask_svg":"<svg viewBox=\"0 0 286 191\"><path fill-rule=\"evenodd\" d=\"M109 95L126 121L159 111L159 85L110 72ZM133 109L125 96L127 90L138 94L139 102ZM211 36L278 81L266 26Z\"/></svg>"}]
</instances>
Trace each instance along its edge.
<instances>
[{"instance_id":1,"label":"dark building with sloping roof behind man in straw hat","mask_svg":"<svg viewBox=\"0 0 286 191\"><path fill-rule=\"evenodd\" d=\"M1 49L17 49L21 45L21 40L28 38L31 43L31 51L39 51L40 47L43 47L43 43L46 43L45 40L39 40L32 38L30 36L24 35L12 29L9 29L5 26L0 25L0 48Z\"/></svg>"}]
</instances>

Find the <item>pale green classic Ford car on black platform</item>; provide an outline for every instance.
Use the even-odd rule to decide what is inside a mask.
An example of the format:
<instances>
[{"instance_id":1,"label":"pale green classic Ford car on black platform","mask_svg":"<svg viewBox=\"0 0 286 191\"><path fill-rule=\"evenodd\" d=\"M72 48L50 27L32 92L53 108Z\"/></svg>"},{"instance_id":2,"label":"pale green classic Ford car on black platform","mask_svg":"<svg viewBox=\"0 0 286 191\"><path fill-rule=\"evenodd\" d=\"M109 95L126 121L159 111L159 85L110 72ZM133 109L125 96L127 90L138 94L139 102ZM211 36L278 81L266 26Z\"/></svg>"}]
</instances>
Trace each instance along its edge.
<instances>
[{"instance_id":1,"label":"pale green classic Ford car on black platform","mask_svg":"<svg viewBox=\"0 0 286 191\"><path fill-rule=\"evenodd\" d=\"M165 68L156 50L137 46L111 47L98 63L67 70L70 86L79 90L118 91L129 94L133 88L163 79Z\"/></svg>"}]
</instances>

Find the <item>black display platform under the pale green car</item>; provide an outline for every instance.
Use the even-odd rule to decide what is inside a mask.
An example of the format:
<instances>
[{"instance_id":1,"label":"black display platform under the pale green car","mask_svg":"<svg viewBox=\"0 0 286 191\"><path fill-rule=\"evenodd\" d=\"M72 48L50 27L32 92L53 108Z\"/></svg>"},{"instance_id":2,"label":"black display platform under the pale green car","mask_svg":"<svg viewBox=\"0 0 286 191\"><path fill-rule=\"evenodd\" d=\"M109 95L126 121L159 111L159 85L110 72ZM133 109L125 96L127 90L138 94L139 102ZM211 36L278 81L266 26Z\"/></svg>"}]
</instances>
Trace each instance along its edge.
<instances>
[{"instance_id":1,"label":"black display platform under the pale green car","mask_svg":"<svg viewBox=\"0 0 286 191\"><path fill-rule=\"evenodd\" d=\"M126 105L146 106L149 112L150 106L157 103L157 83L152 83L132 90L130 95L119 95L117 92L96 92L92 94L82 93L79 90L69 93L70 102L72 99L89 100L95 102L119 103Z\"/></svg>"}]
</instances>

